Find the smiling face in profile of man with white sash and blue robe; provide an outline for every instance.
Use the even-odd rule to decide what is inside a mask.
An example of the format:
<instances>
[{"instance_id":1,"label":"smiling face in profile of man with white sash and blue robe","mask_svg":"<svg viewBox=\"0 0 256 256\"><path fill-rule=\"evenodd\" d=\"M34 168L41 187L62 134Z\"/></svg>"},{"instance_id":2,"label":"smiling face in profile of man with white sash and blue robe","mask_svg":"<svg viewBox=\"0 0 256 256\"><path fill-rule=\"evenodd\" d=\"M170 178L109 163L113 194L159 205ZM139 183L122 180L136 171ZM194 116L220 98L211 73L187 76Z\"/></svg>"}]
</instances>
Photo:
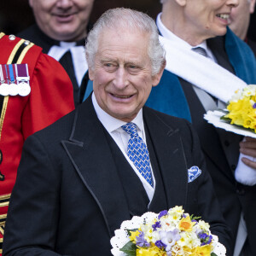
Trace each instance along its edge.
<instances>
[{"instance_id":1,"label":"smiling face in profile of man with white sash and blue robe","mask_svg":"<svg viewBox=\"0 0 256 256\"><path fill-rule=\"evenodd\" d=\"M231 9L237 4L238 0L186 0L186 31L201 40L224 35Z\"/></svg>"}]
</instances>

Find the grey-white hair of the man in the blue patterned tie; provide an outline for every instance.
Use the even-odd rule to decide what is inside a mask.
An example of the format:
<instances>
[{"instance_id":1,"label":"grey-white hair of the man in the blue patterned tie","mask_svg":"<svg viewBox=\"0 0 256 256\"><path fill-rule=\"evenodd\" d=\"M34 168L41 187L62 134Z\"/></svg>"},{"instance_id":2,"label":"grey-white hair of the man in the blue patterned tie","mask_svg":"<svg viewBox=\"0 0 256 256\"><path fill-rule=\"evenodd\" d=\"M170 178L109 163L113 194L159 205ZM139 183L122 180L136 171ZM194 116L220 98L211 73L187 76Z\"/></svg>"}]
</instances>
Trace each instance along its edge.
<instances>
[{"instance_id":1,"label":"grey-white hair of the man in the blue patterned tie","mask_svg":"<svg viewBox=\"0 0 256 256\"><path fill-rule=\"evenodd\" d=\"M96 21L95 26L90 31L85 43L85 52L90 68L94 68L95 55L98 48L98 39L101 32L107 29L131 32L143 32L149 34L148 56L152 63L152 75L160 72L160 67L166 61L166 52L159 41L159 32L155 22L148 15L132 9L117 8L108 9Z\"/></svg>"}]
</instances>

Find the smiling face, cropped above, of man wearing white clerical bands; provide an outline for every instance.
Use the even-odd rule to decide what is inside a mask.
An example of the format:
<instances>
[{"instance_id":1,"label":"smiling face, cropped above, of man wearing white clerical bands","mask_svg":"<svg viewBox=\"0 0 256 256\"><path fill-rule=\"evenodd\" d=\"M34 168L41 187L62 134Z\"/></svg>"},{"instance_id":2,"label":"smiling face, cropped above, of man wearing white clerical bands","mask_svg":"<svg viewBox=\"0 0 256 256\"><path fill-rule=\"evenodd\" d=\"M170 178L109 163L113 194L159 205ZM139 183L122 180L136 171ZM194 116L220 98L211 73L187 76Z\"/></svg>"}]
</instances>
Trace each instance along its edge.
<instances>
[{"instance_id":1,"label":"smiling face, cropped above, of man wearing white clerical bands","mask_svg":"<svg viewBox=\"0 0 256 256\"><path fill-rule=\"evenodd\" d=\"M77 41L86 35L94 0L29 0L40 29L60 41Z\"/></svg>"}]
</instances>

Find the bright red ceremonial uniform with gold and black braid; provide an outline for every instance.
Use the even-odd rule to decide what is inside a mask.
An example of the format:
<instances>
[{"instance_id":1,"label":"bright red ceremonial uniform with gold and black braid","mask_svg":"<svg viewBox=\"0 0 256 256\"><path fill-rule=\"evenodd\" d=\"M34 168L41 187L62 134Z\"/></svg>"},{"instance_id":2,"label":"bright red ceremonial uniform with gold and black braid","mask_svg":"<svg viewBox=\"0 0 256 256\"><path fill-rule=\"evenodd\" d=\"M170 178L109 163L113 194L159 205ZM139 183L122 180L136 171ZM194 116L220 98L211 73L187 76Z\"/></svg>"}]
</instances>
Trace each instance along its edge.
<instances>
[{"instance_id":1,"label":"bright red ceremonial uniform with gold and black braid","mask_svg":"<svg viewBox=\"0 0 256 256\"><path fill-rule=\"evenodd\" d=\"M28 96L0 96L0 255L9 197L26 137L74 108L73 85L57 61L42 49L15 36L0 33L0 64L26 63ZM3 83L3 81L1 82ZM0 85L1 86L1 85ZM37 186L37 184L34 184Z\"/></svg>"}]
</instances>

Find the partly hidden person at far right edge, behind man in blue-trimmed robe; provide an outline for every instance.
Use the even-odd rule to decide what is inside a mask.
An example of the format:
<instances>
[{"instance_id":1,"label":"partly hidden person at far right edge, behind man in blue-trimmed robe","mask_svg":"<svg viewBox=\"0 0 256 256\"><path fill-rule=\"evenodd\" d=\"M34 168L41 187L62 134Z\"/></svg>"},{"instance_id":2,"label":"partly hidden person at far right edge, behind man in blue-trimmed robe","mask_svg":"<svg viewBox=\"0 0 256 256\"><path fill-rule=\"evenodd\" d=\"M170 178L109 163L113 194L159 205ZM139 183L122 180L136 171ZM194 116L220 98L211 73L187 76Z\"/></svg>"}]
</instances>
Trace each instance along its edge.
<instances>
[{"instance_id":1,"label":"partly hidden person at far right edge, behind man in blue-trimmed robe","mask_svg":"<svg viewBox=\"0 0 256 256\"><path fill-rule=\"evenodd\" d=\"M254 13L255 0L241 0L236 8L230 13L229 26L237 37L244 40L253 49L256 55L256 43L247 38L247 31L250 24L250 15Z\"/></svg>"}]
</instances>

